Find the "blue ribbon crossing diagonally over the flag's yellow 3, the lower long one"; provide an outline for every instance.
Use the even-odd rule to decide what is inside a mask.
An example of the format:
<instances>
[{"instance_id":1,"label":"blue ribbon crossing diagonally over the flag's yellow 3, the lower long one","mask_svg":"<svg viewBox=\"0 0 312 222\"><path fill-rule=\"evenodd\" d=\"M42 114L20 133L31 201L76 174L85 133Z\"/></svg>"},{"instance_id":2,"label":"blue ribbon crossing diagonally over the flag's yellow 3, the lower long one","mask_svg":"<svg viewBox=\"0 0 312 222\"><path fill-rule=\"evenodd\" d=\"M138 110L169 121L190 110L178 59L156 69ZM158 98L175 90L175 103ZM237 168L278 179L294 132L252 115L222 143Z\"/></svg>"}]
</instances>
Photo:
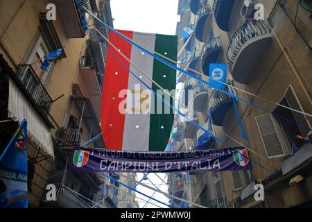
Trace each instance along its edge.
<instances>
[{"instance_id":1,"label":"blue ribbon crossing diagonally over the flag's yellow 3, the lower long one","mask_svg":"<svg viewBox=\"0 0 312 222\"><path fill-rule=\"evenodd\" d=\"M232 148L233 151L237 151L235 148L233 148L232 146L230 146L229 144L227 144L226 142L224 142L222 139L220 139L219 137L216 137L215 135L211 134L209 131L207 131L205 128L202 128L202 126L200 126L198 123L192 121L191 119L189 119L189 117L187 117L187 115L183 114L182 112L180 112L180 110L178 110L177 108L173 107L173 105L171 105L170 103L168 103L168 101L166 101L162 96L160 96L159 94L157 94L157 92L155 92L150 86L148 86L146 83L144 83L143 80L141 80L141 78L139 78L137 75L135 75L130 69L128 69L128 67L126 67L123 62L121 62L121 60L119 60L119 58L117 58L114 53L112 53L112 51L107 50L108 53L111 53L112 56L125 68L127 69L130 74L132 74L133 76L135 76L135 78L137 78L137 80L139 80L143 85L145 85L148 89L150 89L150 91L152 91L159 99L162 100L163 103L165 103L166 105L168 105L172 110L175 110L178 114L180 114L180 116L184 117L187 119L187 121L191 122L194 126L196 126L197 128L200 128L201 130L203 130L205 133L208 133L211 137L214 137L215 139L217 139L219 142L221 142L222 144L229 146L229 148ZM239 151L237 151L239 152ZM248 160L250 160L250 162L254 162L254 164L256 164L257 166L265 169L266 171L270 172L272 175L275 175L274 171L270 171L269 169L267 169L266 167L264 167L262 164L259 164L258 162L253 161L252 159L250 159L250 157L245 156L243 153L239 152L241 155L243 155L243 157L248 158Z\"/></svg>"}]
</instances>

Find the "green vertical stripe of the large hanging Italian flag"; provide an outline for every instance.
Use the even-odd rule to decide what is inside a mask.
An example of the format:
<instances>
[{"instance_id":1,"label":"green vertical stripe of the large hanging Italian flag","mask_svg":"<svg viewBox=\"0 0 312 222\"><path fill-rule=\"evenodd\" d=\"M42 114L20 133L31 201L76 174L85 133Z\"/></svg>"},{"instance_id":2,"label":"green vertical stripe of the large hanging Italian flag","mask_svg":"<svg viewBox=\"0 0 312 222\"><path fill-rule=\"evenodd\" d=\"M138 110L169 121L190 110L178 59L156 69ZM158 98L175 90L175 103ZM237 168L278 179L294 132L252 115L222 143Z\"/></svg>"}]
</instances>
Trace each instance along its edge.
<instances>
[{"instance_id":1,"label":"green vertical stripe of the large hanging Italian flag","mask_svg":"<svg viewBox=\"0 0 312 222\"><path fill-rule=\"evenodd\" d=\"M171 60L177 60L177 36L173 35L159 35L156 34L155 51L160 53ZM175 64L173 64L175 65ZM164 75L166 76L164 78ZM164 89L171 91L175 89L176 71L171 67L154 59L153 80L161 85ZM159 89L155 84L152 86L153 90ZM168 97L168 96L167 96ZM173 126L173 110L169 108L170 114L164 114L165 108L168 110L168 105L162 103L162 100L157 98L154 102L153 96L152 110L150 114L150 138L149 138L149 151L164 151L170 137L171 129ZM166 97L165 97L166 98ZM173 99L170 100L171 105L174 105ZM163 114L157 114L157 103L162 104ZM162 128L163 126L163 128Z\"/></svg>"}]
</instances>

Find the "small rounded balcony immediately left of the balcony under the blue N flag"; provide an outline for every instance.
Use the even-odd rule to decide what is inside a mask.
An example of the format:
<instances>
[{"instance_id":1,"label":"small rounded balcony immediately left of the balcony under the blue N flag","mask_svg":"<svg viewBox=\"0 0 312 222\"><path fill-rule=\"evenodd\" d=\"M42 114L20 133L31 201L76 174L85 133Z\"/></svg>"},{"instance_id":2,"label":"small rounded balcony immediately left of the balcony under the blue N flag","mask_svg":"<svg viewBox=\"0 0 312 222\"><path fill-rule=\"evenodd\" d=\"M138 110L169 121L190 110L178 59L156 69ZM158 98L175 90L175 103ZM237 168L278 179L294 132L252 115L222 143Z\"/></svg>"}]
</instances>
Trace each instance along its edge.
<instances>
[{"instance_id":1,"label":"small rounded balcony immediately left of the balcony under the blue N flag","mask_svg":"<svg viewBox=\"0 0 312 222\"><path fill-rule=\"evenodd\" d=\"M194 110L202 112L205 110L208 99L208 86L203 83L198 83L193 87L194 94Z\"/></svg>"}]
</instances>

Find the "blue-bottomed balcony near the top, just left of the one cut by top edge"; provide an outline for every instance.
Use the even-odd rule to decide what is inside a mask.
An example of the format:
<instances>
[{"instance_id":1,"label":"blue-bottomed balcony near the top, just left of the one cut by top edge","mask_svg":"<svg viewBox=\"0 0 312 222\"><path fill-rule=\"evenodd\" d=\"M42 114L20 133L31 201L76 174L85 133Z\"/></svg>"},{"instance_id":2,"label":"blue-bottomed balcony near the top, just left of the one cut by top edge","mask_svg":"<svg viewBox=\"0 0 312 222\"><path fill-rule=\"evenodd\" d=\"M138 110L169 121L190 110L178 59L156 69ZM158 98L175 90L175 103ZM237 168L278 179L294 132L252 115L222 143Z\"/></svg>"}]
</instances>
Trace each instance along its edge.
<instances>
[{"instance_id":1,"label":"blue-bottomed balcony near the top, just left of the one cut by top edge","mask_svg":"<svg viewBox=\"0 0 312 222\"><path fill-rule=\"evenodd\" d=\"M200 42L207 42L212 33L213 13L209 5L202 5L198 10L196 19L196 39Z\"/></svg>"}]
</instances>

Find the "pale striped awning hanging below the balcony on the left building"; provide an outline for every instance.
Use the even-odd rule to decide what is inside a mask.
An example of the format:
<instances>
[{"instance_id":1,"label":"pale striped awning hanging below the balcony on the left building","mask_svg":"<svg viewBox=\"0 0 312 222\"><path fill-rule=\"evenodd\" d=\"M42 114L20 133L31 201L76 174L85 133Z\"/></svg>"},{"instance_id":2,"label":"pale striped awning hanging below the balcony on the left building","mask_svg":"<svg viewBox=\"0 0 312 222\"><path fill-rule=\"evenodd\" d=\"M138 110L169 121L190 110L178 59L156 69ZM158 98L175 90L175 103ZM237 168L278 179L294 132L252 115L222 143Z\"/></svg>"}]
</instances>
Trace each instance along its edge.
<instances>
[{"instance_id":1,"label":"pale striped awning hanging below the balcony on the left building","mask_svg":"<svg viewBox=\"0 0 312 222\"><path fill-rule=\"evenodd\" d=\"M28 137L36 146L54 158L50 128L42 120L33 105L26 99L17 85L9 78L8 117L21 122L27 121Z\"/></svg>"}]
</instances>

